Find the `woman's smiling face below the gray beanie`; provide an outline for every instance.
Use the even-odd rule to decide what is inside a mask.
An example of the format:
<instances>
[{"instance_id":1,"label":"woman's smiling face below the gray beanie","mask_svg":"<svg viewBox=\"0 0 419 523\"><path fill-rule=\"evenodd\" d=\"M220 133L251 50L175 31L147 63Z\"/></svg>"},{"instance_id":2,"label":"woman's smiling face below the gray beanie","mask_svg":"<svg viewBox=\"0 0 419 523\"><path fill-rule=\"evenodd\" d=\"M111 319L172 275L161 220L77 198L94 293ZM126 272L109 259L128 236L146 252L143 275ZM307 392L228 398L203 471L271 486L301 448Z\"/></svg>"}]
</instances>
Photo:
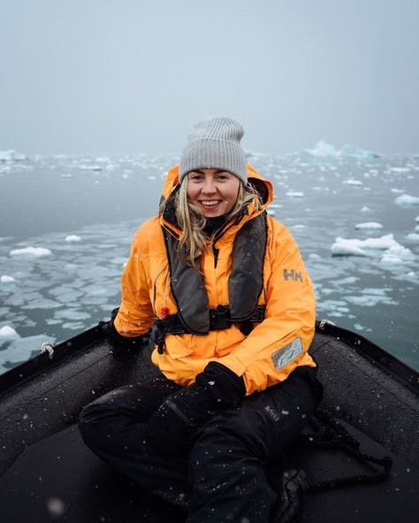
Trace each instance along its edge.
<instances>
[{"instance_id":1,"label":"woman's smiling face below the gray beanie","mask_svg":"<svg viewBox=\"0 0 419 523\"><path fill-rule=\"evenodd\" d=\"M203 216L221 216L234 207L240 183L237 176L219 169L191 171L187 174L187 199Z\"/></svg>"}]
</instances>

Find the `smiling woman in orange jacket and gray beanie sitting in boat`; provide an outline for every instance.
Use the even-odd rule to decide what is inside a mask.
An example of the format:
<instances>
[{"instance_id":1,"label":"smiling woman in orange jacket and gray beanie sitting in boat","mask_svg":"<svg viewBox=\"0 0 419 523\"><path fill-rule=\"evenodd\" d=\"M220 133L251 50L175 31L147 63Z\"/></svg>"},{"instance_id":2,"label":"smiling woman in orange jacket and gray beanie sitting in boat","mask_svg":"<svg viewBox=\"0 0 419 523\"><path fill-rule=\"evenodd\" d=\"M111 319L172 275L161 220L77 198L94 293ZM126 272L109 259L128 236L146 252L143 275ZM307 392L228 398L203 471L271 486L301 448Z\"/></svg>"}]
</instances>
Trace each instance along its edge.
<instances>
[{"instance_id":1,"label":"smiling woman in orange jacket and gray beanie sitting in boat","mask_svg":"<svg viewBox=\"0 0 419 523\"><path fill-rule=\"evenodd\" d=\"M159 376L80 415L88 446L188 523L274 518L267 466L322 394L309 274L266 213L272 185L247 164L242 135L223 116L194 126L158 216L133 240L111 336L123 348L151 329Z\"/></svg>"}]
</instances>

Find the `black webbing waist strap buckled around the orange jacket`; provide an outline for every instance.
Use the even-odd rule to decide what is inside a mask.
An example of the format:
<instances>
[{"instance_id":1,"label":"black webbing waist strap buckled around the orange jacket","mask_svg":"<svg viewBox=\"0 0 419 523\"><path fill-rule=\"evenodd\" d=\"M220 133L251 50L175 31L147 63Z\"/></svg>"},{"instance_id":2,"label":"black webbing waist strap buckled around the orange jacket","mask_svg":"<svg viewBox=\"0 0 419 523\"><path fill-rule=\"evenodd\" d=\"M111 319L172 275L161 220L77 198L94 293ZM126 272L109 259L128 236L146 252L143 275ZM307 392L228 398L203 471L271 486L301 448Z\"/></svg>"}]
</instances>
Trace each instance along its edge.
<instances>
[{"instance_id":1,"label":"black webbing waist strap buckled around the orange jacket","mask_svg":"<svg viewBox=\"0 0 419 523\"><path fill-rule=\"evenodd\" d=\"M240 331L247 336L252 332L254 323L263 321L265 309L264 305L258 305L249 318L237 321L231 318L228 305L218 305L216 309L209 309L209 330L221 330L230 328L233 324L238 324L240 325ZM157 345L159 354L163 354L165 335L184 335L189 332L187 327L180 321L178 314L170 314L165 318L156 319L151 328L151 339Z\"/></svg>"}]
</instances>

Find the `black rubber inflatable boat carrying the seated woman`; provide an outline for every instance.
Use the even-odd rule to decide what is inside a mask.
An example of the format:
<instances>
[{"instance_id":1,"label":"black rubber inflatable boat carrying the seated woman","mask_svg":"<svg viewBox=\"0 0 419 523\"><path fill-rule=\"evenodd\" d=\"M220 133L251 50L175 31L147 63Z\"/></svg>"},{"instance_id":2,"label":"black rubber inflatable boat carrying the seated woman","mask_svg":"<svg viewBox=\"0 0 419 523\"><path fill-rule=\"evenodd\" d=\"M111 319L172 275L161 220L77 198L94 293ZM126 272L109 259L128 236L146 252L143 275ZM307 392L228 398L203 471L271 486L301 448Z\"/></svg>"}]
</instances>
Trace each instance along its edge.
<instances>
[{"instance_id":1,"label":"black rubber inflatable boat carrying the seated woman","mask_svg":"<svg viewBox=\"0 0 419 523\"><path fill-rule=\"evenodd\" d=\"M95 397L156 373L151 347L129 360L114 358L95 327L47 349L0 376L0 521L184 521L184 513L96 458L76 425L82 406ZM301 467L312 484L359 478L307 493L302 523L419 521L418 373L361 335L324 322L316 326L310 353L324 384L321 410L339 419L360 447L348 454L327 442L314 448L296 441L271 476ZM305 443L319 439L318 430L308 427ZM356 454L377 463L390 457L392 466L383 474L383 467ZM362 481L380 471L381 481Z\"/></svg>"}]
</instances>

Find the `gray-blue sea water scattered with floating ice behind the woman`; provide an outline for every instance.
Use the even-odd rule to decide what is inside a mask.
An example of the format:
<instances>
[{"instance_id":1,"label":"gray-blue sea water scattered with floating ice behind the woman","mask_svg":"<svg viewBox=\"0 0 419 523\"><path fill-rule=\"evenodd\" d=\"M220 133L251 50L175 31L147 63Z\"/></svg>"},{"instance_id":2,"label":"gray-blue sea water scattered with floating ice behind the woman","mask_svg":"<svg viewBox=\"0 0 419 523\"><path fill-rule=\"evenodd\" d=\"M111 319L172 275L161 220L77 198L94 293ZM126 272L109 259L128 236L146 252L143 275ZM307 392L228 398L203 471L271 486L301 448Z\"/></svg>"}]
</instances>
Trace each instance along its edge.
<instances>
[{"instance_id":1,"label":"gray-blue sea water scattered with floating ice behind the woman","mask_svg":"<svg viewBox=\"0 0 419 523\"><path fill-rule=\"evenodd\" d=\"M317 318L419 368L419 156L354 147L248 153L272 181ZM136 229L156 213L174 155L0 153L0 372L108 319Z\"/></svg>"}]
</instances>

